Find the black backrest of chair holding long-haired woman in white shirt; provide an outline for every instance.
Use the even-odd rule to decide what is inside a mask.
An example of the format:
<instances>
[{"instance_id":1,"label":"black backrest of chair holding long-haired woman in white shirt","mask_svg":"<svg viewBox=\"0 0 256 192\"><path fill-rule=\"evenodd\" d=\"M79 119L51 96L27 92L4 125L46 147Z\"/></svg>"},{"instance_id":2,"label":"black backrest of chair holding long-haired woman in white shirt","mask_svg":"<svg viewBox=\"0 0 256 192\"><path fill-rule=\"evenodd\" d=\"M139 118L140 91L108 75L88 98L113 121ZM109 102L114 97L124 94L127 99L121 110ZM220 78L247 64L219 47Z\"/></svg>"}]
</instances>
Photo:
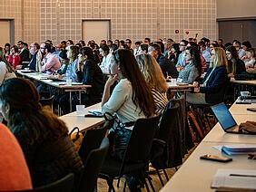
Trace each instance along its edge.
<instances>
[{"instance_id":1,"label":"black backrest of chair holding long-haired woman in white shirt","mask_svg":"<svg viewBox=\"0 0 256 192\"><path fill-rule=\"evenodd\" d=\"M161 115L152 118L136 120L127 149L125 151L124 160L130 162L147 161L155 137L156 130Z\"/></svg>"}]
</instances>

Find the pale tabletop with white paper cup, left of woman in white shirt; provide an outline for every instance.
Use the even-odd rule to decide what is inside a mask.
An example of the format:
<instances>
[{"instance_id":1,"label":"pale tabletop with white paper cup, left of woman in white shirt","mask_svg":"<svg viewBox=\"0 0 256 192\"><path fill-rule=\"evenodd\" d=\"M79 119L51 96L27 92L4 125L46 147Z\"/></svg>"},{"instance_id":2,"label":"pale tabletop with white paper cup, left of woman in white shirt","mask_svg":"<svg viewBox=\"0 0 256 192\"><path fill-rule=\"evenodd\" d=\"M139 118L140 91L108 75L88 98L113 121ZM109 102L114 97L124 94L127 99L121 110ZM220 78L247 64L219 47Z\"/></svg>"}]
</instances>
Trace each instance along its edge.
<instances>
[{"instance_id":1,"label":"pale tabletop with white paper cup, left of woman in white shirt","mask_svg":"<svg viewBox=\"0 0 256 192\"><path fill-rule=\"evenodd\" d=\"M88 110L101 110L101 103L97 103L90 107L84 109L84 115L88 114ZM84 117L77 116L76 111L68 113L64 116L61 116L60 119L64 120L65 124L69 131L73 130L74 127L78 127L79 130L89 130L95 126L98 126L103 123L103 118L95 118L95 117Z\"/></svg>"}]
</instances>

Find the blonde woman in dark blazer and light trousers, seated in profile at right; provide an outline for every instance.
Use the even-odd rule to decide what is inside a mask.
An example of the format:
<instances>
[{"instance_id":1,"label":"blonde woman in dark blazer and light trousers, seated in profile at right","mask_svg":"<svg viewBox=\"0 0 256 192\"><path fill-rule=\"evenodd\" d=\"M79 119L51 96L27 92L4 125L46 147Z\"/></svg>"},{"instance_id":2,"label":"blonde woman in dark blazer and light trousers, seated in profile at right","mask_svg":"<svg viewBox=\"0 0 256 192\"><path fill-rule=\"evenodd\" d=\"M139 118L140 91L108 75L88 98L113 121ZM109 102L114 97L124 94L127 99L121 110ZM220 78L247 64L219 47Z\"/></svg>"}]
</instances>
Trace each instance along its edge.
<instances>
[{"instance_id":1,"label":"blonde woman in dark blazer and light trousers, seated in profile at right","mask_svg":"<svg viewBox=\"0 0 256 192\"><path fill-rule=\"evenodd\" d=\"M193 82L196 86L194 93L187 92L186 101L192 104L219 103L223 100L226 83L229 81L226 66L228 64L225 51L221 47L214 47L210 62L212 68L203 78L202 85Z\"/></svg>"}]
</instances>

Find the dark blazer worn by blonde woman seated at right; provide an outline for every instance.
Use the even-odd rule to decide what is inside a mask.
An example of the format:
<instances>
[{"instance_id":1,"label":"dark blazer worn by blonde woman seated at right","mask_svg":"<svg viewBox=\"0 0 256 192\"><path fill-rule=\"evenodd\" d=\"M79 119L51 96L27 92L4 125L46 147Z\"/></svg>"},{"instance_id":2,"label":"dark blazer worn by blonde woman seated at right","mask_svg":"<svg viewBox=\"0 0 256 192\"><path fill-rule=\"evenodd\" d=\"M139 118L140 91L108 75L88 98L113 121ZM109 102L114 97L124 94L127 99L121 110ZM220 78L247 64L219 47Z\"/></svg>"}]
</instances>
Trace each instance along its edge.
<instances>
[{"instance_id":1,"label":"dark blazer worn by blonde woman seated at right","mask_svg":"<svg viewBox=\"0 0 256 192\"><path fill-rule=\"evenodd\" d=\"M212 72L210 68L206 73L203 82ZM208 103L219 103L223 101L226 85L229 82L228 72L225 66L216 67L205 87L200 87L200 92L205 93L205 101Z\"/></svg>"}]
</instances>

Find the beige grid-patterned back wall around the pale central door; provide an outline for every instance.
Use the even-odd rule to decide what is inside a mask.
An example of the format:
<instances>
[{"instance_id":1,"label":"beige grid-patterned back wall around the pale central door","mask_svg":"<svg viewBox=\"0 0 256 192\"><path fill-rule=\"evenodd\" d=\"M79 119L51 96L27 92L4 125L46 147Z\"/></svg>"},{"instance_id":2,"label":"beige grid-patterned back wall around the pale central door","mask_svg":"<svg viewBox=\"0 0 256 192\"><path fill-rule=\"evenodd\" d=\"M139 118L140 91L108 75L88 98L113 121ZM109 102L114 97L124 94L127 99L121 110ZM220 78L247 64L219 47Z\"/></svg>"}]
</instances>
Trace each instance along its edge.
<instances>
[{"instance_id":1,"label":"beige grid-patterned back wall around the pale central door","mask_svg":"<svg viewBox=\"0 0 256 192\"><path fill-rule=\"evenodd\" d=\"M112 39L180 41L183 29L216 39L216 0L41 0L41 42L82 38L83 19L111 19ZM175 34L175 29L180 34ZM85 40L88 41L88 40Z\"/></svg>"}]
</instances>

